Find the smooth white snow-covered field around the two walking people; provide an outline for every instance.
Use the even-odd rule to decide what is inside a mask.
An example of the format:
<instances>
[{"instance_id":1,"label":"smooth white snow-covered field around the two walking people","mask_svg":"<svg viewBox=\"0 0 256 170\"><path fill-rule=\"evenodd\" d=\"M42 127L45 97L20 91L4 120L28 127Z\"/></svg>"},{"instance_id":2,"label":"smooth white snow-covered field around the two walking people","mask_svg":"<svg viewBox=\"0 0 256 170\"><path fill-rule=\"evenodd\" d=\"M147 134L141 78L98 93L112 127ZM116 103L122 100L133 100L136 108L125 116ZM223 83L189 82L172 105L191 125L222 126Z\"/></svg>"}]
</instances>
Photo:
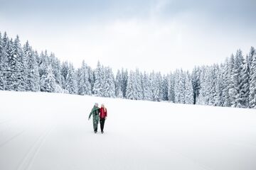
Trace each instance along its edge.
<instances>
[{"instance_id":1,"label":"smooth white snow-covered field around the two walking people","mask_svg":"<svg viewBox=\"0 0 256 170\"><path fill-rule=\"evenodd\" d=\"M92 132L105 103L105 134ZM0 91L0 169L256 169L256 111Z\"/></svg>"}]
</instances>

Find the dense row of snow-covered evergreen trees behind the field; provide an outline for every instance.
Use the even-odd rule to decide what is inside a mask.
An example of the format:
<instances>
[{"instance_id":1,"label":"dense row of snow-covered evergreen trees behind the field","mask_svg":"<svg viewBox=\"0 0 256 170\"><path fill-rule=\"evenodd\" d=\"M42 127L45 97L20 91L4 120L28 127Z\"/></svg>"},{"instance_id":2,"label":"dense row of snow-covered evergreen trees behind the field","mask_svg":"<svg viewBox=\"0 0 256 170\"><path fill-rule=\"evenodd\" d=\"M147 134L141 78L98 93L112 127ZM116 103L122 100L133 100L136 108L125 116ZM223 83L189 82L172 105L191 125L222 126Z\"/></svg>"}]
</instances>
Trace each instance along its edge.
<instances>
[{"instance_id":1,"label":"dense row of snow-covered evergreen trees behind the field","mask_svg":"<svg viewBox=\"0 0 256 170\"><path fill-rule=\"evenodd\" d=\"M195 67L191 73L176 69L162 75L122 69L114 77L112 69L100 62L96 69L85 61L75 69L53 53L38 54L28 41L22 46L18 35L13 40L0 32L0 90L256 108L255 85L254 47L246 57L238 50L222 64Z\"/></svg>"}]
</instances>

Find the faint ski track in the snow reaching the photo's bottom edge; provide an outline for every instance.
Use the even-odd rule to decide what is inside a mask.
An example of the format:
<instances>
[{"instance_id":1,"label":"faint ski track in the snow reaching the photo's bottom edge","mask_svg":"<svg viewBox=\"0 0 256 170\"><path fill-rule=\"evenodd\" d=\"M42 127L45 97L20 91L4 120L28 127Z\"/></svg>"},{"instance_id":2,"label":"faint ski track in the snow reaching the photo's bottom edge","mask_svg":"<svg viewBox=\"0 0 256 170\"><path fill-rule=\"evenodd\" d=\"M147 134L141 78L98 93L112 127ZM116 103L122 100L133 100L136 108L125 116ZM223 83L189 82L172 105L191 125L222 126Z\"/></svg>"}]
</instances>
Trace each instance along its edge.
<instances>
[{"instance_id":1,"label":"faint ski track in the snow reaching the photo's bottom edge","mask_svg":"<svg viewBox=\"0 0 256 170\"><path fill-rule=\"evenodd\" d=\"M31 148L26 153L25 157L23 157L23 160L19 164L17 170L31 169L31 166L33 165L33 162L36 159L38 152L40 151L41 147L43 146L43 143L46 141L46 138L48 137L48 135L50 135L50 132L52 130L53 130L53 126L50 128L46 128L46 130L41 132L41 135L33 143Z\"/></svg>"}]
</instances>

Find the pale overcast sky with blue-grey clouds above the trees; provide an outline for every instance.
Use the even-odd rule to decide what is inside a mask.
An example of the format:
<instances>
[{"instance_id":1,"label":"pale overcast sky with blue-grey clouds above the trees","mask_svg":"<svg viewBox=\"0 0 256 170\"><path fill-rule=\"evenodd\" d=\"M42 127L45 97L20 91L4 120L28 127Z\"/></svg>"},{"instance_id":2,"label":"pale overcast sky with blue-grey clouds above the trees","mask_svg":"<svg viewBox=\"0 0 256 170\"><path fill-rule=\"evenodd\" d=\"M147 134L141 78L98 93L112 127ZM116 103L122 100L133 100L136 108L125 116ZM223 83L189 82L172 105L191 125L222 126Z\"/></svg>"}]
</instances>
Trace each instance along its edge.
<instances>
[{"instance_id":1,"label":"pale overcast sky with blue-grey clouds above the trees","mask_svg":"<svg viewBox=\"0 0 256 170\"><path fill-rule=\"evenodd\" d=\"M255 0L0 0L0 31L79 67L163 73L256 46Z\"/></svg>"}]
</instances>

